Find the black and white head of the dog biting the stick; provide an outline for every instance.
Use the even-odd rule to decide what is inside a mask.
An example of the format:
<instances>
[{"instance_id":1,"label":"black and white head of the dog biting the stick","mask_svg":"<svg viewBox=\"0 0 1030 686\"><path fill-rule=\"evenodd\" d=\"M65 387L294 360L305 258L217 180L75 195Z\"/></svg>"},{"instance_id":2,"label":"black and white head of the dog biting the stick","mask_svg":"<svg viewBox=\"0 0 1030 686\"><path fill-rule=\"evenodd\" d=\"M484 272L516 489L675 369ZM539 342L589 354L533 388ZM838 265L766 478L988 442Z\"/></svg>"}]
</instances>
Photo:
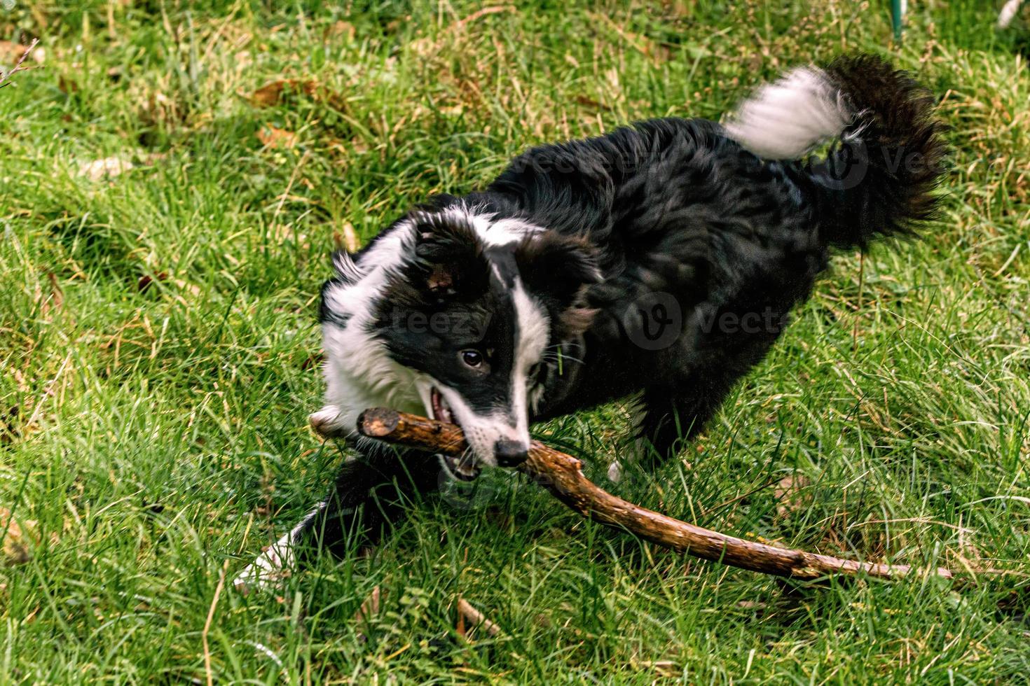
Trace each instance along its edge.
<instances>
[{"instance_id":1,"label":"black and white head of the dog biting the stick","mask_svg":"<svg viewBox=\"0 0 1030 686\"><path fill-rule=\"evenodd\" d=\"M394 230L409 231L397 244L405 254L377 281L367 334L414 372L426 413L465 431L471 450L448 462L456 476L518 465L529 417L561 371L561 346L590 323L581 296L599 279L593 251L578 238L464 211L415 212ZM335 261L341 277L359 280L376 260Z\"/></svg>"}]
</instances>

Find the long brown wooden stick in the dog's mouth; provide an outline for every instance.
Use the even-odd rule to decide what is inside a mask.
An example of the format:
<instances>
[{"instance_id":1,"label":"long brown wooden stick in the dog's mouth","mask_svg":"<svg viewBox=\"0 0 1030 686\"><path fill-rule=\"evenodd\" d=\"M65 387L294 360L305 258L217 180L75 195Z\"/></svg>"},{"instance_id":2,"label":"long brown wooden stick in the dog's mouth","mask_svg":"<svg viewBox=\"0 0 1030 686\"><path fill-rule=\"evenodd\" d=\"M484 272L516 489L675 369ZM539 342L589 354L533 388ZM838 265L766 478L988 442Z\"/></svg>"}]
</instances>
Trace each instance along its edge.
<instances>
[{"instance_id":1,"label":"long brown wooden stick in the dog's mouth","mask_svg":"<svg viewBox=\"0 0 1030 686\"><path fill-rule=\"evenodd\" d=\"M392 409L377 407L365 410L357 419L357 430L369 438L433 453L457 456L467 448L465 435L459 427ZM778 548L680 521L598 489L583 476L579 460L539 441L534 441L529 446L529 457L519 470L544 485L566 506L594 521L628 531L658 545L701 559L803 580L833 574L865 574L879 578L923 573L949 579L954 576L942 567L927 572L907 565L861 563L803 550Z\"/></svg>"}]
</instances>

